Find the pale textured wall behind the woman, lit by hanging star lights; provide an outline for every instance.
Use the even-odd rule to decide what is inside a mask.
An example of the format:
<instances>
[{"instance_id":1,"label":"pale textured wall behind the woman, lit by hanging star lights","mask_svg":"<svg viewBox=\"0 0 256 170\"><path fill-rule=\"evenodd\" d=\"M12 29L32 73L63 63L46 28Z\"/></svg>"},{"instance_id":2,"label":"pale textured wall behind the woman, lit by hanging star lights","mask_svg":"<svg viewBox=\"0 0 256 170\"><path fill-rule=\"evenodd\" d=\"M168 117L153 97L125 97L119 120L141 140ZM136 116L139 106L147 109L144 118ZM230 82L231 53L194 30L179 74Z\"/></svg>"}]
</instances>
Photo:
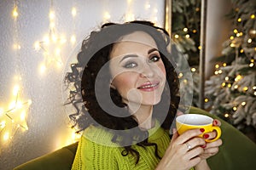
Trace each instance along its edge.
<instances>
[{"instance_id":1,"label":"pale textured wall behind the woman, lit by hanging star lights","mask_svg":"<svg viewBox=\"0 0 256 170\"><path fill-rule=\"evenodd\" d=\"M32 105L27 113L28 130L19 129L14 138L5 143L0 139L0 169L12 169L70 142L72 131L61 93L63 75L74 60L80 42L91 30L102 25L105 11L114 22L125 20L128 11L136 19L154 21L156 16L159 26L164 22L164 0L53 0L55 31L67 39L75 33L77 43L72 45L67 41L61 48L64 65L61 68L49 65L42 75L38 66L44 60L44 52L36 51L33 45L49 32L51 1L16 2L19 16L15 21L12 17L15 0L0 1L0 107L9 103L16 75L21 77L20 95L32 99ZM76 17L71 14L73 7L77 8ZM13 48L14 42L19 42L19 50ZM0 121L3 116L0 115Z\"/></svg>"}]
</instances>

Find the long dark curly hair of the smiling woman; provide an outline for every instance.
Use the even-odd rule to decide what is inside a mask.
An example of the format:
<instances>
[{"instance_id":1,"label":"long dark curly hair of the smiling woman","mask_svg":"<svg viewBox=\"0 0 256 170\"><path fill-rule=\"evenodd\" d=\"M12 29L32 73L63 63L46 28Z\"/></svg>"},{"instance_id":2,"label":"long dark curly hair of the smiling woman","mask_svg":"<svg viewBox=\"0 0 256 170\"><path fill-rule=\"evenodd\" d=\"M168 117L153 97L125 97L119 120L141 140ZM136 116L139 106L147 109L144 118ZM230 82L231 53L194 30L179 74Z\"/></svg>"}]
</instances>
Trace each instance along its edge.
<instances>
[{"instance_id":1,"label":"long dark curly hair of the smiling woman","mask_svg":"<svg viewBox=\"0 0 256 170\"><path fill-rule=\"evenodd\" d=\"M122 102L119 92L110 88L110 72L103 71L101 74L98 74L102 66L108 63L114 43L120 37L134 31L144 31L154 38L160 52L160 57L165 65L167 88L165 88L166 91L161 96L160 103L154 105L153 117L162 122L161 127L169 130L176 116L179 104L179 82L174 63L172 62L172 56L167 50L171 42L169 35L166 30L154 26L152 22L135 20L125 22L124 24L108 23L104 24L99 31L92 31L90 37L82 43L81 51L77 56L78 63L71 65L72 71L67 73L65 80L68 84L73 84L74 86L69 91L68 103L76 108L76 112L70 115L70 119L74 122L73 127L78 127L79 131L82 131L91 124L98 126L98 123L108 129L123 130L122 133L114 133L112 140L113 142L125 145L125 150L122 152L123 156L127 156L129 153L132 155L136 154L138 162L140 158L139 153L131 146L135 144L134 142L143 148L148 145L154 145L155 156L160 158L157 144L148 142L148 132L138 128L135 117L131 116L129 111L125 109L126 105ZM96 89L96 83L100 84L100 88ZM111 99L108 94L103 92L106 88L108 88L108 92L110 91ZM115 110L110 108L110 110L104 111L101 105L99 105L100 102L98 102L96 94L101 94L101 98L107 103L113 101L113 104L121 109ZM81 103L84 103L84 105L79 105ZM167 108L166 113L163 113L163 108ZM108 114L109 111L118 112L120 116ZM122 137L122 140L117 140L119 136Z\"/></svg>"}]
</instances>

